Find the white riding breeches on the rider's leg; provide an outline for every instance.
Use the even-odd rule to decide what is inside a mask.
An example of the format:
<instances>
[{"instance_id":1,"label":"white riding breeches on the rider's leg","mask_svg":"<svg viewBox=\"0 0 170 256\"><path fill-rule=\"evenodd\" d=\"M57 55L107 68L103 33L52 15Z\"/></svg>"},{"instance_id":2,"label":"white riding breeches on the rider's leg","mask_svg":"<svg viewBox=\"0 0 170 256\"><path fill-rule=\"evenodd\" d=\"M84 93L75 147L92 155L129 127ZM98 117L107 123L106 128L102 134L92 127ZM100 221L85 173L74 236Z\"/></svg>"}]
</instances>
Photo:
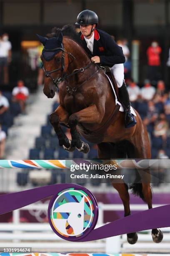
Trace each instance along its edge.
<instances>
[{"instance_id":1,"label":"white riding breeches on the rider's leg","mask_svg":"<svg viewBox=\"0 0 170 256\"><path fill-rule=\"evenodd\" d=\"M120 88L124 81L124 66L123 64L115 64L110 68L117 82L117 87Z\"/></svg>"}]
</instances>

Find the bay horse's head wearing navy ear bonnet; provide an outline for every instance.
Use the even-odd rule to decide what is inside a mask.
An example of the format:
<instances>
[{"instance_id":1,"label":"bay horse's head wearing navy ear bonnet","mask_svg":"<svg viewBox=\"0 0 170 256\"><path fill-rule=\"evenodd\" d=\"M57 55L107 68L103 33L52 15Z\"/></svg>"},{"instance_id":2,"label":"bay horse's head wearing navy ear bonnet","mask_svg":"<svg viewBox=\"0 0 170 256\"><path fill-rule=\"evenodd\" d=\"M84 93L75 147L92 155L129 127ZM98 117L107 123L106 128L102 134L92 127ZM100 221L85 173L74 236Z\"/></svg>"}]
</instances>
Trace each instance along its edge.
<instances>
[{"instance_id":1,"label":"bay horse's head wearing navy ear bonnet","mask_svg":"<svg viewBox=\"0 0 170 256\"><path fill-rule=\"evenodd\" d=\"M45 72L43 92L48 98L53 98L56 92L57 83L68 67L68 56L62 45L62 33L58 37L45 38L37 35L43 44L41 60Z\"/></svg>"}]
</instances>

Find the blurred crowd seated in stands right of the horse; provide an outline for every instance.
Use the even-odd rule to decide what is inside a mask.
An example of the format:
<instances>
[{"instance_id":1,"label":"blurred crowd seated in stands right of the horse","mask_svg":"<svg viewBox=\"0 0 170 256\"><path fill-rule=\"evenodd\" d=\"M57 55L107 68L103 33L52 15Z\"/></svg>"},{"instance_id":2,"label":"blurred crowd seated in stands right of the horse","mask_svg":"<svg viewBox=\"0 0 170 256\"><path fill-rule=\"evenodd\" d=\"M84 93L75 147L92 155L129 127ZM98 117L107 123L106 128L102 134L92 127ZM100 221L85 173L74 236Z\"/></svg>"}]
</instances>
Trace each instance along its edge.
<instances>
[{"instance_id":1,"label":"blurred crowd seated in stands right of the horse","mask_svg":"<svg viewBox=\"0 0 170 256\"><path fill-rule=\"evenodd\" d=\"M152 158L170 157L170 92L165 91L162 80L153 87L148 80L142 88L132 80L128 82L132 106L145 123L152 146Z\"/></svg>"}]
</instances>

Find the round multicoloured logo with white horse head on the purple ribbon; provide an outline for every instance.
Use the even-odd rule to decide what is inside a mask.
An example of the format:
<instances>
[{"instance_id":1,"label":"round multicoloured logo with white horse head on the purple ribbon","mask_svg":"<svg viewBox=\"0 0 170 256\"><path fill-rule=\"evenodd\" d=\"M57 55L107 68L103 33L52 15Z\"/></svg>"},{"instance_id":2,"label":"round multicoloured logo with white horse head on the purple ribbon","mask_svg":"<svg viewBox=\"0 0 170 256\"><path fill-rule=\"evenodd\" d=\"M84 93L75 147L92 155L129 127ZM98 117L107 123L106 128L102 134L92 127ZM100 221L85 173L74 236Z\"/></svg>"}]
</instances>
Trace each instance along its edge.
<instances>
[{"instance_id":1,"label":"round multicoloured logo with white horse head on the purple ribbon","mask_svg":"<svg viewBox=\"0 0 170 256\"><path fill-rule=\"evenodd\" d=\"M95 197L84 187L81 188L64 189L49 204L48 218L53 231L69 241L87 236L97 223Z\"/></svg>"}]
</instances>

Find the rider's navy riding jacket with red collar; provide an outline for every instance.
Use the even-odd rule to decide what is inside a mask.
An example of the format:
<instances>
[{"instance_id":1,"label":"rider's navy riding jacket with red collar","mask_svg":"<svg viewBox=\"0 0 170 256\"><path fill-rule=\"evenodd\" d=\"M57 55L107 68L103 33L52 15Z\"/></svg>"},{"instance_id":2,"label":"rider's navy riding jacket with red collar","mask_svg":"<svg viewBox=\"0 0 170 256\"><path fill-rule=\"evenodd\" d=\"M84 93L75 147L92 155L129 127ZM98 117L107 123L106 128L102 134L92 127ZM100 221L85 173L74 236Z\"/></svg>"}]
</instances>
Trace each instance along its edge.
<instances>
[{"instance_id":1,"label":"rider's navy riding jacket with red collar","mask_svg":"<svg viewBox=\"0 0 170 256\"><path fill-rule=\"evenodd\" d=\"M81 32L80 39L81 45L87 54L90 56L100 56L100 64L103 66L112 67L114 64L125 62L122 47L118 46L115 40L105 31L100 29L94 30L93 54L87 48L87 43Z\"/></svg>"}]
</instances>

